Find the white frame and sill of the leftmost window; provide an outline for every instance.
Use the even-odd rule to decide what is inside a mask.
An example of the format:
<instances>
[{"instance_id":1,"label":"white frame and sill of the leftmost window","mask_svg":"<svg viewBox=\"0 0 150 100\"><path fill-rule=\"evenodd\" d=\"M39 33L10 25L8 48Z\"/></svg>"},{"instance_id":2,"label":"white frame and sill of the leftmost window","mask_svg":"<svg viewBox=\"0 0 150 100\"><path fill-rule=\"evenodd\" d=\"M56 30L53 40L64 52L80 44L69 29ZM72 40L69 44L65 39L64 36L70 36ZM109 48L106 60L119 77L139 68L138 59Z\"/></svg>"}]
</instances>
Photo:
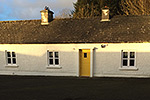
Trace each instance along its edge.
<instances>
[{"instance_id":1,"label":"white frame and sill of the leftmost window","mask_svg":"<svg viewBox=\"0 0 150 100\"><path fill-rule=\"evenodd\" d=\"M11 57L7 56L7 52L10 52L10 56ZM12 57L12 52L15 53L16 57ZM11 63L10 64L8 63L8 58L11 59ZM15 64L13 63L13 58L16 59L16 63ZM5 65L6 67L14 67L14 68L18 67L18 65L17 65L17 54L16 54L16 52L14 50L5 50L5 59L6 59L6 65Z\"/></svg>"}]
</instances>

